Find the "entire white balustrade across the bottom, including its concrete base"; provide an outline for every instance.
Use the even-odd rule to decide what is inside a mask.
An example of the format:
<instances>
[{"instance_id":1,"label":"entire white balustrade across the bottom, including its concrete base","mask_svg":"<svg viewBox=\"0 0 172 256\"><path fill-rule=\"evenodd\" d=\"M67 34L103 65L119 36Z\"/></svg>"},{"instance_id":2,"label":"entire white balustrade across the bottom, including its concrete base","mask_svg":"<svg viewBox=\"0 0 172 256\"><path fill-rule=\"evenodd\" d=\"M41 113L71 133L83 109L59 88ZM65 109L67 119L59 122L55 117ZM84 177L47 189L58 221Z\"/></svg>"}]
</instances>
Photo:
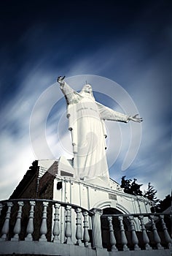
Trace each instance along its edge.
<instances>
[{"instance_id":1,"label":"entire white balustrade across the bottom, including its concrete base","mask_svg":"<svg viewBox=\"0 0 172 256\"><path fill-rule=\"evenodd\" d=\"M171 255L170 214L103 214L33 199L1 201L0 211L0 255Z\"/></svg>"}]
</instances>

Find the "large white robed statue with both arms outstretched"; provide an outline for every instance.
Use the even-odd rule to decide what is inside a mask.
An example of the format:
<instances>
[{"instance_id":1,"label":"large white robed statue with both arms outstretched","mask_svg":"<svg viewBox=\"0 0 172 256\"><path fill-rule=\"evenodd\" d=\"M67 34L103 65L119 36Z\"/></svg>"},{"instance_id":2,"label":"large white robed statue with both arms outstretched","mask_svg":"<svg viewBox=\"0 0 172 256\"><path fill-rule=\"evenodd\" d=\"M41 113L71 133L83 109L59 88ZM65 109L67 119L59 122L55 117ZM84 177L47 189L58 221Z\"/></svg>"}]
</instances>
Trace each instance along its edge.
<instances>
[{"instance_id":1,"label":"large white robed statue with both arms outstretched","mask_svg":"<svg viewBox=\"0 0 172 256\"><path fill-rule=\"evenodd\" d=\"M79 93L58 77L60 89L66 97L67 118L74 153L74 170L77 178L89 180L101 177L109 180L106 161L105 120L141 122L142 118L127 116L95 101L90 84Z\"/></svg>"}]
</instances>

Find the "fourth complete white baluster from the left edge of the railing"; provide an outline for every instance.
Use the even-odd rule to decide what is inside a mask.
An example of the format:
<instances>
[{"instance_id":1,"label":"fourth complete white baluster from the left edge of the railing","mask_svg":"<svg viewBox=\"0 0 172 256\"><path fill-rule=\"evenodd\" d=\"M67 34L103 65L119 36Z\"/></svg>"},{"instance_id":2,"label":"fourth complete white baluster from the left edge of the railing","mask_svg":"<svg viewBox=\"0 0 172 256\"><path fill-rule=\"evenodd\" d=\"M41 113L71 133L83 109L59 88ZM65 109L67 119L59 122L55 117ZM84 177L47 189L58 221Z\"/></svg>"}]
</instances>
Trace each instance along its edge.
<instances>
[{"instance_id":1,"label":"fourth complete white baluster from the left edge of the railing","mask_svg":"<svg viewBox=\"0 0 172 256\"><path fill-rule=\"evenodd\" d=\"M47 206L48 202L43 202L43 211L42 211L42 225L40 228L40 238L39 241L47 241Z\"/></svg>"}]
</instances>

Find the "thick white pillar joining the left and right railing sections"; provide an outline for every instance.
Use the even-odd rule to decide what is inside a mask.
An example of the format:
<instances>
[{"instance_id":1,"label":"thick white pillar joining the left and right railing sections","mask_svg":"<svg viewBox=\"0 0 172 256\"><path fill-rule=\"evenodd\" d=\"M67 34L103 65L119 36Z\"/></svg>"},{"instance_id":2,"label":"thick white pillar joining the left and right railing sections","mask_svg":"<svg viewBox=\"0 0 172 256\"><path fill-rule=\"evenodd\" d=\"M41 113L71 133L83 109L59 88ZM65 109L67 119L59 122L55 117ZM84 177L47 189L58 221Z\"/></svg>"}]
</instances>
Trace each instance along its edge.
<instances>
[{"instance_id":1,"label":"thick white pillar joining the left and right railing sections","mask_svg":"<svg viewBox=\"0 0 172 256\"><path fill-rule=\"evenodd\" d=\"M93 249L103 248L101 238L101 215L103 212L98 208L93 208L92 212Z\"/></svg>"}]
</instances>

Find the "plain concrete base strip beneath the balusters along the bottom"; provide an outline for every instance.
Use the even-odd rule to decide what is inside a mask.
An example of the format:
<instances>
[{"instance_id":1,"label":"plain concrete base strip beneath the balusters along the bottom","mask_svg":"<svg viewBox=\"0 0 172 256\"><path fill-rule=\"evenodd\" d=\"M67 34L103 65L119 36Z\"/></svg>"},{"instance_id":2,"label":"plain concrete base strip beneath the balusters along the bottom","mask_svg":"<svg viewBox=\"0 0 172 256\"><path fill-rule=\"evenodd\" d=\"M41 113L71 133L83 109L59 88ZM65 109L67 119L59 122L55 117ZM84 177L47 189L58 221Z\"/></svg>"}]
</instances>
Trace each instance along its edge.
<instances>
[{"instance_id":1,"label":"plain concrete base strip beneath the balusters along the bottom","mask_svg":"<svg viewBox=\"0 0 172 256\"><path fill-rule=\"evenodd\" d=\"M41 241L1 241L0 255L59 255L59 256L171 256L171 249L154 249L128 252L107 252L106 249L55 244Z\"/></svg>"}]
</instances>

